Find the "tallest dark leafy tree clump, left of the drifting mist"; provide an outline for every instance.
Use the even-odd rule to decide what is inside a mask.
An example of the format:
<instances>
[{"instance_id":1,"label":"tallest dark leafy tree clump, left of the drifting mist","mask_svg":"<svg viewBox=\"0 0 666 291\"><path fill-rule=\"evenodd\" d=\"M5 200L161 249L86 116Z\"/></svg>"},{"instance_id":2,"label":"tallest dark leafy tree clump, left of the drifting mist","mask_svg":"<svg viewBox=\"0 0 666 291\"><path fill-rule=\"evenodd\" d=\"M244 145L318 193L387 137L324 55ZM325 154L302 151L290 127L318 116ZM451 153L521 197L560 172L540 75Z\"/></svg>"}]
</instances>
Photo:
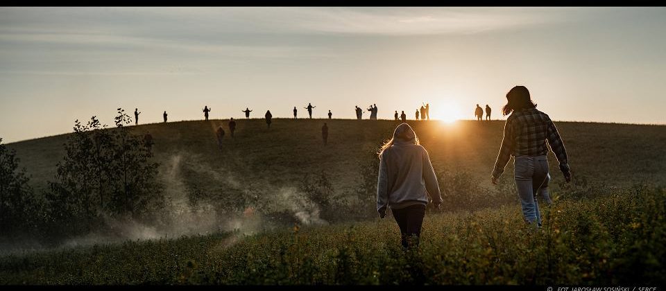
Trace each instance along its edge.
<instances>
[{"instance_id":1,"label":"tallest dark leafy tree clump, left of the drifting mist","mask_svg":"<svg viewBox=\"0 0 666 291\"><path fill-rule=\"evenodd\" d=\"M103 216L146 218L164 209L151 148L124 125L131 118L118 109L116 128L105 129L96 116L74 123L55 182L49 182L51 230L72 233L103 226Z\"/></svg>"}]
</instances>

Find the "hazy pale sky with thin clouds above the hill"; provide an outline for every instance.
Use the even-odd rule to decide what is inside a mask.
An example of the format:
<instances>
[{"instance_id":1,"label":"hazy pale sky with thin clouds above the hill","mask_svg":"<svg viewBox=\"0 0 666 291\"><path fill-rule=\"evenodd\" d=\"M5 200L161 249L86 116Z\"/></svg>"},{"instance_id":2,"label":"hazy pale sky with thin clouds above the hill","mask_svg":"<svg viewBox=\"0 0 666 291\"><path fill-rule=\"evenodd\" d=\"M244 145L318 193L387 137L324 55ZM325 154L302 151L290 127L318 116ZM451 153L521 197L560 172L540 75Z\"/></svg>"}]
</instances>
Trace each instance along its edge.
<instances>
[{"instance_id":1,"label":"hazy pale sky with thin clouds above the hill","mask_svg":"<svg viewBox=\"0 0 666 291\"><path fill-rule=\"evenodd\" d=\"M515 85L556 121L666 123L666 8L0 8L0 63L3 142L118 107L504 119Z\"/></svg>"}]
</instances>

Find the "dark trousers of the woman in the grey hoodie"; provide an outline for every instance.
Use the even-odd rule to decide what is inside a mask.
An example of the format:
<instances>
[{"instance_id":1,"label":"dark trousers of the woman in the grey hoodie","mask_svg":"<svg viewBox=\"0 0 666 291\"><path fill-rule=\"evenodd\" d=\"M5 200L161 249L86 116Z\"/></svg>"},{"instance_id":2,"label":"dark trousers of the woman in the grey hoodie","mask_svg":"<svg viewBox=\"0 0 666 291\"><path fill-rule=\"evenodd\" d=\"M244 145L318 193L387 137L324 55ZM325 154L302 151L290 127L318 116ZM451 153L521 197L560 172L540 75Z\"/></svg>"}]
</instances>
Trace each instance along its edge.
<instances>
[{"instance_id":1,"label":"dark trousers of the woman in the grey hoodie","mask_svg":"<svg viewBox=\"0 0 666 291\"><path fill-rule=\"evenodd\" d=\"M421 235L421 225L423 216L425 216L425 205L416 204L407 206L403 209L391 209L395 222L400 227L400 243L402 247L418 247L418 240Z\"/></svg>"}]
</instances>

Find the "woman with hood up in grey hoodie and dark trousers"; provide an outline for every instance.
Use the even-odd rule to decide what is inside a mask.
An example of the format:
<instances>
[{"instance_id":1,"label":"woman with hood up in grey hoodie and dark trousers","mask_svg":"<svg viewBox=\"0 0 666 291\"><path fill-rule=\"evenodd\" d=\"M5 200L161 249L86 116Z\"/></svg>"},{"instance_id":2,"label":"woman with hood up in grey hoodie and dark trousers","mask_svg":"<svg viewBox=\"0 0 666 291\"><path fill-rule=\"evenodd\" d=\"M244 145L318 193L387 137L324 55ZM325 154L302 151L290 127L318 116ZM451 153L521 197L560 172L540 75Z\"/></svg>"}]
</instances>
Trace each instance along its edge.
<instances>
[{"instance_id":1,"label":"woman with hood up in grey hoodie and dark trousers","mask_svg":"<svg viewBox=\"0 0 666 291\"><path fill-rule=\"evenodd\" d=\"M402 246L418 246L425 206L430 202L436 208L442 202L437 177L428 152L418 144L418 137L407 123L395 127L393 138L379 150L379 176L377 177L377 212L386 216L391 208L400 227Z\"/></svg>"}]
</instances>

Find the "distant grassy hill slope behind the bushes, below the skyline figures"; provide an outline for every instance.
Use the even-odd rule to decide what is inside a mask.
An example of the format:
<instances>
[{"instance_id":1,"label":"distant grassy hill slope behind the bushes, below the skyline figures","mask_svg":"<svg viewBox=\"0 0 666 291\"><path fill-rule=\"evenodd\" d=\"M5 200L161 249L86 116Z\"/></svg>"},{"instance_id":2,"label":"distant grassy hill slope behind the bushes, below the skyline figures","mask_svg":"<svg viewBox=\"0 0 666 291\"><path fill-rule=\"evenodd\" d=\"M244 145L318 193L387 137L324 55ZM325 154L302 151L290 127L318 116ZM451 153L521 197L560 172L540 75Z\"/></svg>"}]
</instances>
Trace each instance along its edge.
<instances>
[{"instance_id":1,"label":"distant grassy hill slope behind the bushes, below the skyline figures","mask_svg":"<svg viewBox=\"0 0 666 291\"><path fill-rule=\"evenodd\" d=\"M321 126L329 126L324 146ZM305 175L322 171L336 191L353 187L359 161L391 137L395 121L348 119L281 119L271 128L263 119L238 120L234 139L228 120L181 121L134 126L150 132L160 173L202 189L256 191L263 195L293 186ZM429 151L435 170L465 170L490 187L490 171L502 141L504 121L409 121L421 144ZM225 132L223 150L216 145L215 130ZM575 177L626 186L635 182L666 184L666 126L557 122L570 156ZM34 188L53 179L56 163L64 155L67 134L8 143L17 150L21 166L32 176ZM549 153L554 183L562 180L556 159ZM510 161L505 174L513 175Z\"/></svg>"}]
</instances>

